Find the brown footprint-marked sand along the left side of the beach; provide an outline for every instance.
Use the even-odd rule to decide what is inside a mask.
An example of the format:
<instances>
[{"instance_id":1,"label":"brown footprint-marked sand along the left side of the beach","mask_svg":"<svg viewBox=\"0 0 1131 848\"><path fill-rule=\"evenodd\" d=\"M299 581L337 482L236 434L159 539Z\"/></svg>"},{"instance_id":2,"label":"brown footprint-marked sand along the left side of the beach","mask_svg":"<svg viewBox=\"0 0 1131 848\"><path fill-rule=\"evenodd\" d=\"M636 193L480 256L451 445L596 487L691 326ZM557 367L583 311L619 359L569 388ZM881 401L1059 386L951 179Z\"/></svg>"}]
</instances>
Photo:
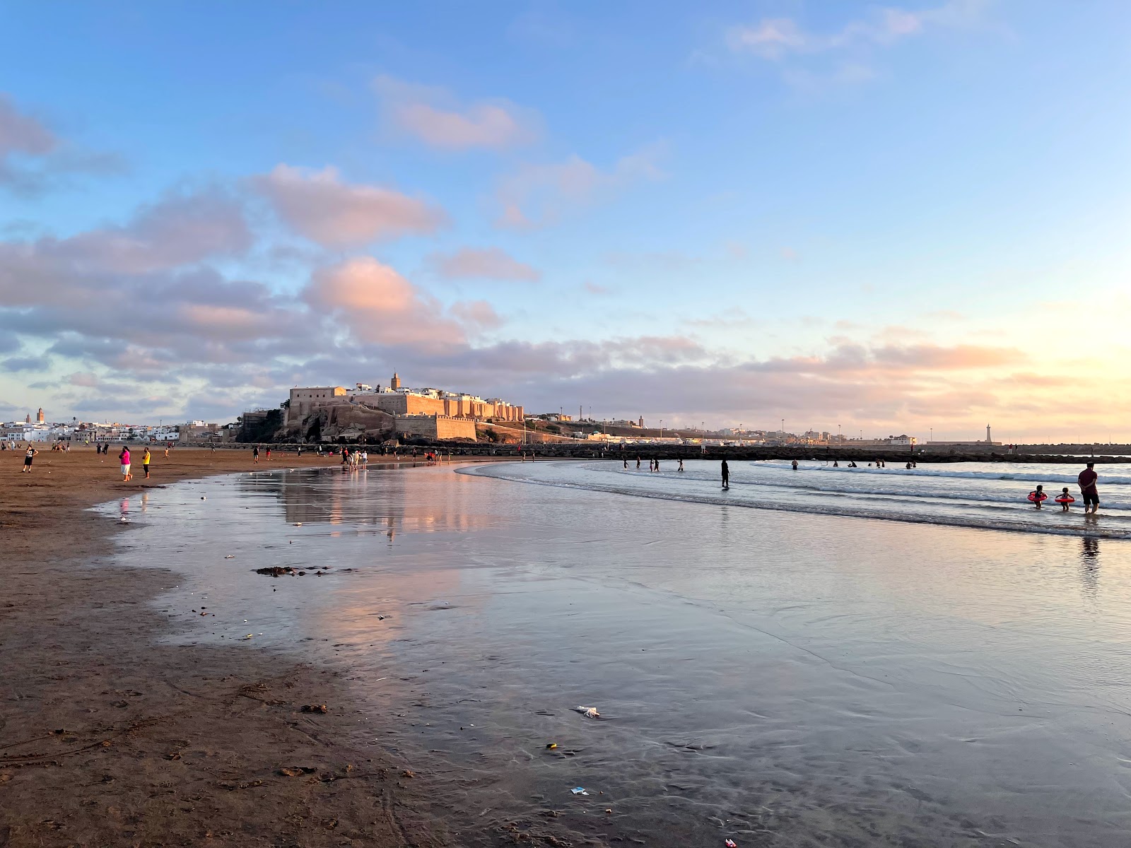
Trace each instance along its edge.
<instances>
[{"instance_id":1,"label":"brown footprint-marked sand along the left side of the beach","mask_svg":"<svg viewBox=\"0 0 1131 848\"><path fill-rule=\"evenodd\" d=\"M44 450L32 474L0 453L0 847L448 843L416 812L426 779L361 753L333 672L157 644L161 551L153 571L95 564L129 529L86 507L248 470L250 451L157 450L149 481L131 451L131 483L116 452ZM276 457L259 467L338 462Z\"/></svg>"}]
</instances>

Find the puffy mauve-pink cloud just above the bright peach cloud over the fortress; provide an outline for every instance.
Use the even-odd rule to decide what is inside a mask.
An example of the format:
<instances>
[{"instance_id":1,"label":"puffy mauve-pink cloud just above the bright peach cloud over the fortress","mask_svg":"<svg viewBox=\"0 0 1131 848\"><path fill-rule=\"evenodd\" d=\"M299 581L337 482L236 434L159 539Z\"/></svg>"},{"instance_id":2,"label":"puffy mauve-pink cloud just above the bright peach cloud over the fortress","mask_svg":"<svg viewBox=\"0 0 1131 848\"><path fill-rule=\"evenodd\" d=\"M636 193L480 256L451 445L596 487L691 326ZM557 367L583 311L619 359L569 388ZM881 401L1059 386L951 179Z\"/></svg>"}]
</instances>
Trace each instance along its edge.
<instances>
[{"instance_id":1,"label":"puffy mauve-pink cloud just above the bright peach cloud over the fortress","mask_svg":"<svg viewBox=\"0 0 1131 848\"><path fill-rule=\"evenodd\" d=\"M335 167L279 164L251 181L292 230L327 248L347 248L435 232L443 210L379 185L342 181Z\"/></svg>"}]
</instances>

